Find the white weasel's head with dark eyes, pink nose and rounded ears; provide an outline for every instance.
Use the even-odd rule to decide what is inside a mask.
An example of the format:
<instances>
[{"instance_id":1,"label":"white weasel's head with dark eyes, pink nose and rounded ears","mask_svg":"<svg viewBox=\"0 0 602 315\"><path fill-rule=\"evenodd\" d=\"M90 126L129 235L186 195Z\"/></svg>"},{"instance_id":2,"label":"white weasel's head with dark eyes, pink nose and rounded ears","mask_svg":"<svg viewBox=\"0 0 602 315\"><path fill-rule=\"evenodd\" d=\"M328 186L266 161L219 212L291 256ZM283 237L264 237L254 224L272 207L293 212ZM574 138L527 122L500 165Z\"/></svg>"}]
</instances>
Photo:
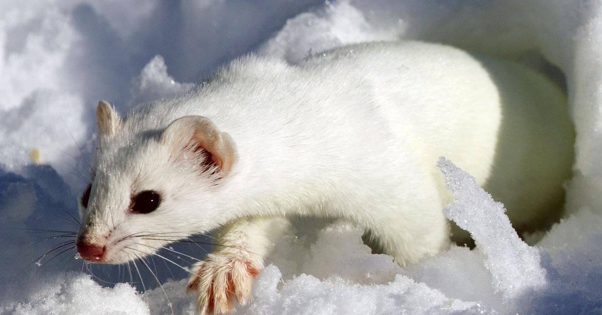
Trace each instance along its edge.
<instances>
[{"instance_id":1,"label":"white weasel's head with dark eyes, pink nose and rounded ears","mask_svg":"<svg viewBox=\"0 0 602 315\"><path fill-rule=\"evenodd\" d=\"M96 121L92 178L79 198L85 260L125 263L216 226L217 195L235 163L227 134L202 116L140 130L104 101Z\"/></svg>"}]
</instances>

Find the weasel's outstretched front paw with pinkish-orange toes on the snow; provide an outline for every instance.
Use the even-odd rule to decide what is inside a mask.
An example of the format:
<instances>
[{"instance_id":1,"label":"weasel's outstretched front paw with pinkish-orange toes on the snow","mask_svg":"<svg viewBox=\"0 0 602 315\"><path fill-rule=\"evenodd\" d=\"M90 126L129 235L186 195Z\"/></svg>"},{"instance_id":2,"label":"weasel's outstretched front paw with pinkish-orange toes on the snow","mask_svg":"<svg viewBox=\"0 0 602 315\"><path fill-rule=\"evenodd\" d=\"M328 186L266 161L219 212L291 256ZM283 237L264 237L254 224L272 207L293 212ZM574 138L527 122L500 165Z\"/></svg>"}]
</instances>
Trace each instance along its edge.
<instances>
[{"instance_id":1,"label":"weasel's outstretched front paw with pinkish-orange toes on the snow","mask_svg":"<svg viewBox=\"0 0 602 315\"><path fill-rule=\"evenodd\" d=\"M188 293L196 292L199 314L226 314L232 298L241 305L249 301L251 286L261 266L250 258L228 253L209 254L194 264Z\"/></svg>"}]
</instances>

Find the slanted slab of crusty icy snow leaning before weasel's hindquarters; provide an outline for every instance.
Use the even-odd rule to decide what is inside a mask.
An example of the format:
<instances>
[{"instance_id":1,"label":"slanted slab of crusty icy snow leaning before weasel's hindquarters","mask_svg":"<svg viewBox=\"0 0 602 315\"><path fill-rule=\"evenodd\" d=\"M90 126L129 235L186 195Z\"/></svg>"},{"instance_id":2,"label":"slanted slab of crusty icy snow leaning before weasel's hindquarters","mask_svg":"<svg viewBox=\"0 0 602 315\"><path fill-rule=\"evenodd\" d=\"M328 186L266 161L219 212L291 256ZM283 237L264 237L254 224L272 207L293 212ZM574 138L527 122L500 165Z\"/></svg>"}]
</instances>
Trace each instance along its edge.
<instances>
[{"instance_id":1,"label":"slanted slab of crusty icy snow leaning before weasel's hindquarters","mask_svg":"<svg viewBox=\"0 0 602 315\"><path fill-rule=\"evenodd\" d=\"M437 166L455 196L444 214L470 232L485 253L485 266L493 276L495 288L504 297L514 298L529 288L544 287L547 280L541 256L518 237L504 214L503 204L495 202L472 176L444 157L439 158Z\"/></svg>"}]
</instances>

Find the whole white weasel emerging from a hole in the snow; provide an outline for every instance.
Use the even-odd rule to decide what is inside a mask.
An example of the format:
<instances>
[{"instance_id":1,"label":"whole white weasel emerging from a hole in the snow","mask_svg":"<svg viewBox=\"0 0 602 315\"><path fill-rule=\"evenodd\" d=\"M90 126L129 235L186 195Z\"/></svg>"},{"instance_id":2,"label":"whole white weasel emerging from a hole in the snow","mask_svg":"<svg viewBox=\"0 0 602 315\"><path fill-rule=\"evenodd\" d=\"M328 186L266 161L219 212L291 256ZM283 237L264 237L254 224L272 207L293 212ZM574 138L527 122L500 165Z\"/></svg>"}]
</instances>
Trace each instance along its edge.
<instances>
[{"instance_id":1,"label":"whole white weasel emerging from a hole in the snow","mask_svg":"<svg viewBox=\"0 0 602 315\"><path fill-rule=\"evenodd\" d=\"M571 166L560 89L517 64L432 43L347 46L296 65L249 55L187 95L124 119L101 101L96 116L79 253L125 263L223 226L227 246L190 278L200 313L248 301L290 216L351 219L401 266L448 248L441 155L499 187L520 224L562 201ZM518 137L500 140L504 129ZM500 152L503 141L512 152ZM496 172L524 184L507 189Z\"/></svg>"}]
</instances>

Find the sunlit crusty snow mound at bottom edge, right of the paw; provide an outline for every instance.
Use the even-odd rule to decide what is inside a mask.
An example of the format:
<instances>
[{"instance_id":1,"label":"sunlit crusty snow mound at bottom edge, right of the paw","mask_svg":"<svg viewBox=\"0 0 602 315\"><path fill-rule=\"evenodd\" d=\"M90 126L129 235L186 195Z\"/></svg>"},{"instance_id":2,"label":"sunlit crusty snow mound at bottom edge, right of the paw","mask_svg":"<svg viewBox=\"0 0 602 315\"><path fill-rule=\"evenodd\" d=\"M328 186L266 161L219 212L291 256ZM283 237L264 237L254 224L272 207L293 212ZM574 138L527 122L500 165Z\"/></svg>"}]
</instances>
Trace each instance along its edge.
<instances>
[{"instance_id":1,"label":"sunlit crusty snow mound at bottom edge, right of the paw","mask_svg":"<svg viewBox=\"0 0 602 315\"><path fill-rule=\"evenodd\" d=\"M357 266L356 266L357 267ZM361 269L358 269L361 270ZM300 275L278 288L281 273L265 267L253 286L250 314L451 314L494 313L476 302L462 302L396 276L389 284L362 285L334 276L324 281Z\"/></svg>"}]
</instances>

